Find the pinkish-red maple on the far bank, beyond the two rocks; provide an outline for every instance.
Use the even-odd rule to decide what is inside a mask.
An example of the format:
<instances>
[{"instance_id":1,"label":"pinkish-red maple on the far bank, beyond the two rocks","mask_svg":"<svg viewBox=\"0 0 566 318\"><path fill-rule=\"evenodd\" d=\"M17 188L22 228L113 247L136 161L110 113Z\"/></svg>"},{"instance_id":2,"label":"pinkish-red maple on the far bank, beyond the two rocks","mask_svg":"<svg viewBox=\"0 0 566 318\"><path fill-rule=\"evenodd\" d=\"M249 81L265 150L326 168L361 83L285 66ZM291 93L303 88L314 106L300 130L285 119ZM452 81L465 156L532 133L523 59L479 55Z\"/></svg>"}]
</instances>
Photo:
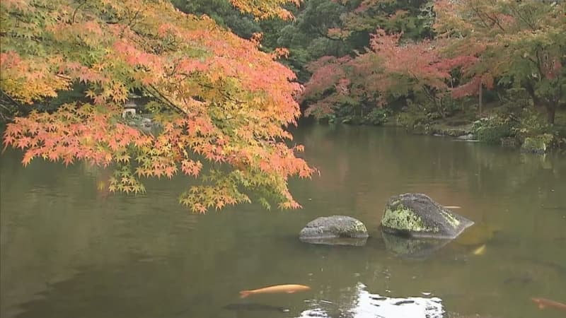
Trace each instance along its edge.
<instances>
[{"instance_id":1,"label":"pinkish-red maple on the far bank, beyond the two rocks","mask_svg":"<svg viewBox=\"0 0 566 318\"><path fill-rule=\"evenodd\" d=\"M379 29L371 36L367 52L354 59L324 57L311 64L314 73L302 98L317 99L327 94L313 102L307 114L332 112L339 95L349 95L373 107L386 106L391 97L421 95L444 117L451 63L439 54L437 47L441 44L432 40L403 42L401 35Z\"/></svg>"}]
</instances>

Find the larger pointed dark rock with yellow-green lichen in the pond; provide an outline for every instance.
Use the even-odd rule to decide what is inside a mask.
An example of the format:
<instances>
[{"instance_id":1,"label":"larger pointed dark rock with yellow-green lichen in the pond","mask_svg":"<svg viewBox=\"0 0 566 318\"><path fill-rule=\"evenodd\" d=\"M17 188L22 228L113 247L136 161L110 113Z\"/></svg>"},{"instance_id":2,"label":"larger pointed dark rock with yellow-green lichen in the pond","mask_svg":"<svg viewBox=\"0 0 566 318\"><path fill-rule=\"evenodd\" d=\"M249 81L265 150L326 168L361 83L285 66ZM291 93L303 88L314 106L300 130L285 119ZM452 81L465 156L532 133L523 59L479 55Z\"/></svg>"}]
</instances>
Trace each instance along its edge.
<instances>
[{"instance_id":1,"label":"larger pointed dark rock with yellow-green lichen in the pond","mask_svg":"<svg viewBox=\"0 0 566 318\"><path fill-rule=\"evenodd\" d=\"M384 232L408 237L454 239L473 221L449 211L424 194L393 196L381 218Z\"/></svg>"}]
</instances>

